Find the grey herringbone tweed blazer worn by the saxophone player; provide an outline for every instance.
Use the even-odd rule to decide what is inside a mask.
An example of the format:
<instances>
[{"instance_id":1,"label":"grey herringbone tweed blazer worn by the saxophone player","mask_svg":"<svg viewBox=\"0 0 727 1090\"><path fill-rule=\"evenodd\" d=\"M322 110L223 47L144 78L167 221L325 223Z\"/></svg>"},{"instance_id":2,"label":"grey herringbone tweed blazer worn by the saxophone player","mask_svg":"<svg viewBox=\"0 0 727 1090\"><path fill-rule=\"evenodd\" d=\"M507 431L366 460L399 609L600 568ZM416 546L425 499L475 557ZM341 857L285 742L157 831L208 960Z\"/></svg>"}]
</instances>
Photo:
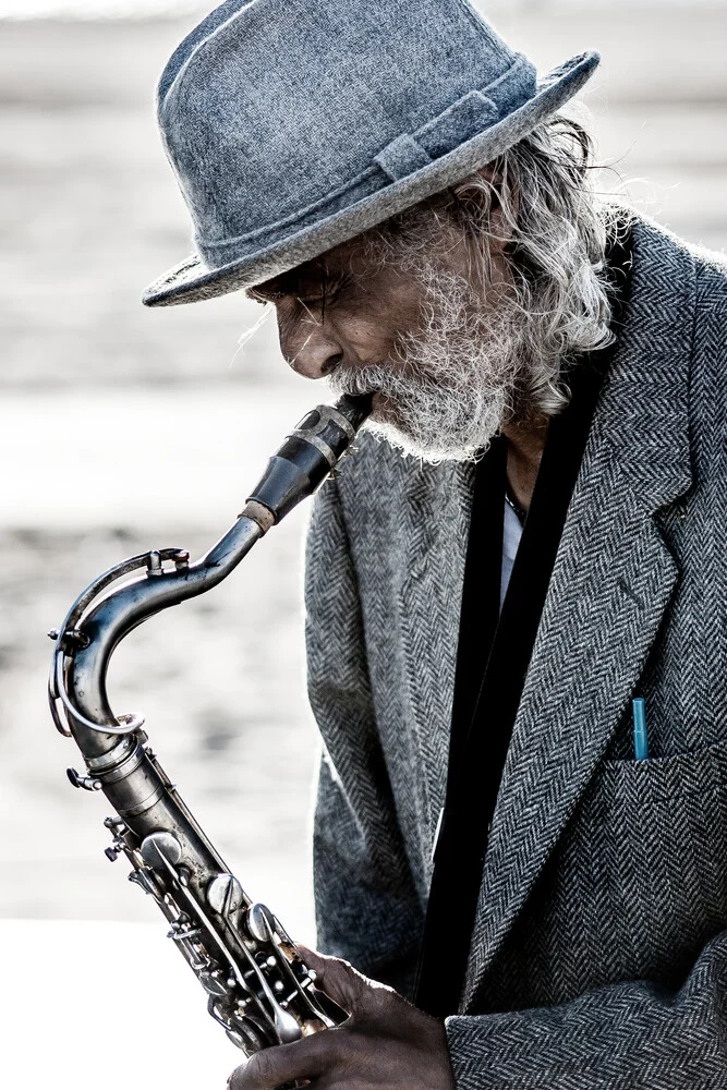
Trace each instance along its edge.
<instances>
[{"instance_id":1,"label":"grey herringbone tweed blazer worn by the saxophone player","mask_svg":"<svg viewBox=\"0 0 727 1090\"><path fill-rule=\"evenodd\" d=\"M446 1024L460 1090L727 1090L727 267L643 219L633 262ZM319 945L411 994L473 469L360 446L307 550Z\"/></svg>"}]
</instances>

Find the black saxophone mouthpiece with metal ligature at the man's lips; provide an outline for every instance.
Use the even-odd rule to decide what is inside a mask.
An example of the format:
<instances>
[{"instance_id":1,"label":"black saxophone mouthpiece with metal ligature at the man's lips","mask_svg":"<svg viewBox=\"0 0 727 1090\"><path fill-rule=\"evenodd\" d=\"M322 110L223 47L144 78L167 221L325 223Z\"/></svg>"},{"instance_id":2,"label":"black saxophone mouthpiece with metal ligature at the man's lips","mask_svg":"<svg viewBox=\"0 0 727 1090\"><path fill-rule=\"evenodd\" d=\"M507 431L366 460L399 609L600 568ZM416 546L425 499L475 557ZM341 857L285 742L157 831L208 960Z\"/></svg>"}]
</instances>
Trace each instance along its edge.
<instances>
[{"instance_id":1,"label":"black saxophone mouthpiece with metal ligature at the man's lips","mask_svg":"<svg viewBox=\"0 0 727 1090\"><path fill-rule=\"evenodd\" d=\"M317 405L306 413L268 462L243 514L266 531L335 475L336 465L350 452L356 432L371 414L372 398L371 393L344 393L335 404Z\"/></svg>"}]
</instances>

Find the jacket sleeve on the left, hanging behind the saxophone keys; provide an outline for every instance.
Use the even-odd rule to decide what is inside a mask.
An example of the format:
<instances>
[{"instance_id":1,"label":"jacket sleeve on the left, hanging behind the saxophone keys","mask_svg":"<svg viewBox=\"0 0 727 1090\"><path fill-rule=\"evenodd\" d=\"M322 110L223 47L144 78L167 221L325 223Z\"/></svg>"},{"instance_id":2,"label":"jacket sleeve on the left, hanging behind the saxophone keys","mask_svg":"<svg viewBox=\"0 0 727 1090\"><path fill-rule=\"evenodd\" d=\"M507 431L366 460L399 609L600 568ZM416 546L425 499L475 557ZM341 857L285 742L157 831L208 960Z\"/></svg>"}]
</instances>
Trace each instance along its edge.
<instances>
[{"instance_id":1,"label":"jacket sleeve on the left, hanging behind the saxophone keys","mask_svg":"<svg viewBox=\"0 0 727 1090\"><path fill-rule=\"evenodd\" d=\"M379 744L337 485L316 497L305 579L308 694L323 736L314 820L318 945L410 994L422 931Z\"/></svg>"}]
</instances>

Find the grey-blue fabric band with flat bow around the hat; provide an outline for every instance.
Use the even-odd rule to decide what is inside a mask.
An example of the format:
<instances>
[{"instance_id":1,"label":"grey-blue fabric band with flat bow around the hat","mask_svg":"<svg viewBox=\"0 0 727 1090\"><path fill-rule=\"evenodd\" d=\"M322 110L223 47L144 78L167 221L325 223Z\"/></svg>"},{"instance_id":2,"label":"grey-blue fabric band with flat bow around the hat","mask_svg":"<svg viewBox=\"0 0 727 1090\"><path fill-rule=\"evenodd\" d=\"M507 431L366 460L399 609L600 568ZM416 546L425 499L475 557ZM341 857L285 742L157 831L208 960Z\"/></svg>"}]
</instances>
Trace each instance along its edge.
<instances>
[{"instance_id":1,"label":"grey-blue fabric band with flat bow around the hat","mask_svg":"<svg viewBox=\"0 0 727 1090\"><path fill-rule=\"evenodd\" d=\"M205 242L197 237L195 241L199 254L209 268L220 267L246 256L245 251L251 252L251 244L254 250L263 249L275 242L286 229L314 222L320 211L325 210L329 216L342 211L358 201L380 192L383 175L388 182L397 182L429 166L520 109L536 89L535 68L519 53L507 72L483 90L468 92L415 133L403 133L392 140L374 156L371 167L356 178L291 216L247 234L214 242Z\"/></svg>"}]
</instances>

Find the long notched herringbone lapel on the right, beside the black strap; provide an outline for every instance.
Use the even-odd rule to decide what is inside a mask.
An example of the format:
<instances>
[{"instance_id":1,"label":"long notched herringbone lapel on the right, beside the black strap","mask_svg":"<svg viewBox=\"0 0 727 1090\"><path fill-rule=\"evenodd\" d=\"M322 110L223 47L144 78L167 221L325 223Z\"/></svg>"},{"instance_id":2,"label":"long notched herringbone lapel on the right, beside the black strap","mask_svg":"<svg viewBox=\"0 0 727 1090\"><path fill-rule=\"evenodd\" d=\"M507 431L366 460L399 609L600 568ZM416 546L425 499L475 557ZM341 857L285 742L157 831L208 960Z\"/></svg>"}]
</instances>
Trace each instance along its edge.
<instances>
[{"instance_id":1,"label":"long notched herringbone lapel on the right, beside the black strap","mask_svg":"<svg viewBox=\"0 0 727 1090\"><path fill-rule=\"evenodd\" d=\"M628 707L678 578L654 514L691 484L694 266L639 220L633 257L493 819L464 1010Z\"/></svg>"}]
</instances>

